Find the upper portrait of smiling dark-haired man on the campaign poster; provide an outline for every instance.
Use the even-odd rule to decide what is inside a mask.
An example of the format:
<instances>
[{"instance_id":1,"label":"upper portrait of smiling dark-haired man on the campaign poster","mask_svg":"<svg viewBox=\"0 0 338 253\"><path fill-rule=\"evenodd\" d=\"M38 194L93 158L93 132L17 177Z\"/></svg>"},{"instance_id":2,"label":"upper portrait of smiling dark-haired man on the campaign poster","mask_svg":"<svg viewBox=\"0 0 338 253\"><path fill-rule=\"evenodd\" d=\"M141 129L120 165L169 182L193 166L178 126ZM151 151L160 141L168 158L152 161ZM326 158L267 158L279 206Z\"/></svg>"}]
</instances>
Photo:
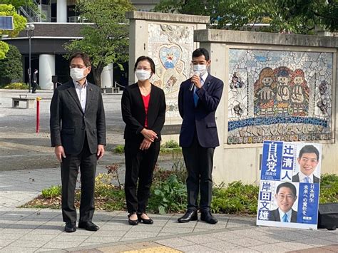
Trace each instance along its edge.
<instances>
[{"instance_id":1,"label":"upper portrait of smiling dark-haired man on the campaign poster","mask_svg":"<svg viewBox=\"0 0 338 253\"><path fill-rule=\"evenodd\" d=\"M297 165L295 167L292 182L308 182L319 184L320 177L320 157L318 147L312 144L297 147Z\"/></svg>"}]
</instances>

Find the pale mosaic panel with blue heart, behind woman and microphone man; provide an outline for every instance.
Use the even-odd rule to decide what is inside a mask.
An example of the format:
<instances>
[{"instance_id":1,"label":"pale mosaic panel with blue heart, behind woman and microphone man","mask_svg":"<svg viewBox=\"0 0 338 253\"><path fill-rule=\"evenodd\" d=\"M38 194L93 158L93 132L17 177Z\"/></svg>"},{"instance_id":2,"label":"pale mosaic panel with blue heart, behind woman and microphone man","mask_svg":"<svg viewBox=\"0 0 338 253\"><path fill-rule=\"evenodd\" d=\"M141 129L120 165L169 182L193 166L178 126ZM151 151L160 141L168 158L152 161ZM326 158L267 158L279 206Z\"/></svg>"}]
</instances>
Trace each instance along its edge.
<instances>
[{"instance_id":1,"label":"pale mosaic panel with blue heart, behind woman and microphone man","mask_svg":"<svg viewBox=\"0 0 338 253\"><path fill-rule=\"evenodd\" d=\"M193 31L193 26L148 24L148 56L156 66L152 82L165 92L167 118L180 118L178 91L180 83L192 76Z\"/></svg>"}]
</instances>

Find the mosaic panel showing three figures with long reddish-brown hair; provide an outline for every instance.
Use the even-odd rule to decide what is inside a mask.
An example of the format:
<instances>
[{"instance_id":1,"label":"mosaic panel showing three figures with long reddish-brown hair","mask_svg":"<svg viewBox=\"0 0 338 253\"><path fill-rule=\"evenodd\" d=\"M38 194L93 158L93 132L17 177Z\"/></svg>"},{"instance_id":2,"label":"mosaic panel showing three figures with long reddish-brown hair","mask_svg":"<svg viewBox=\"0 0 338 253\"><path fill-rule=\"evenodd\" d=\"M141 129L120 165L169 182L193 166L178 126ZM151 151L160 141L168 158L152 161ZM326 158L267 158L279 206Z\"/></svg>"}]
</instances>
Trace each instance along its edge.
<instances>
[{"instance_id":1,"label":"mosaic panel showing three figures with long reddish-brown hair","mask_svg":"<svg viewBox=\"0 0 338 253\"><path fill-rule=\"evenodd\" d=\"M229 49L228 144L331 140L333 53Z\"/></svg>"}]
</instances>

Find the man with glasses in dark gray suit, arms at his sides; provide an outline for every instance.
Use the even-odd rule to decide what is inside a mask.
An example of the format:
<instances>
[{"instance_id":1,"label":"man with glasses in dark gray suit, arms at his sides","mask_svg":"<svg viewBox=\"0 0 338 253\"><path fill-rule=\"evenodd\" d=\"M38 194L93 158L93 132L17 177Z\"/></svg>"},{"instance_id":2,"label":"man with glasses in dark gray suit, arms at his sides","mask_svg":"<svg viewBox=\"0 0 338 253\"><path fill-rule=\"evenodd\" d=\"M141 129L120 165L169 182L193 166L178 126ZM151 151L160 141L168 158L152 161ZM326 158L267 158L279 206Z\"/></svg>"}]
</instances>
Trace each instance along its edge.
<instances>
[{"instance_id":1,"label":"man with glasses in dark gray suit, arms at his sides","mask_svg":"<svg viewBox=\"0 0 338 253\"><path fill-rule=\"evenodd\" d=\"M106 145L106 119L101 90L89 83L91 61L85 53L71 56L71 81L58 86L51 100L51 145L61 162L62 215L65 231L76 231L74 192L81 171L81 205L78 227L98 230L93 224L97 160Z\"/></svg>"}]
</instances>

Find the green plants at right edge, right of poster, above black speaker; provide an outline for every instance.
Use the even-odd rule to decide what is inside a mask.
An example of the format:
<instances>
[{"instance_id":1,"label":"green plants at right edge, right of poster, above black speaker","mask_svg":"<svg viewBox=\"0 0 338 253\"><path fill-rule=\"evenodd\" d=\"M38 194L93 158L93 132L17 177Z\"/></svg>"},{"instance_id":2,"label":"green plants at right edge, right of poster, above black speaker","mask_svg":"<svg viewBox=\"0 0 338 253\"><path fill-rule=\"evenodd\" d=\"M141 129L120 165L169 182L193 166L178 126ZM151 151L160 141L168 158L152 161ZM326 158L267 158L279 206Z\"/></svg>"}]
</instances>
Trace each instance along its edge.
<instances>
[{"instance_id":1,"label":"green plants at right edge, right of poster, above black speaker","mask_svg":"<svg viewBox=\"0 0 338 253\"><path fill-rule=\"evenodd\" d=\"M320 179L320 203L338 202L338 176L335 174L322 174Z\"/></svg>"}]
</instances>

